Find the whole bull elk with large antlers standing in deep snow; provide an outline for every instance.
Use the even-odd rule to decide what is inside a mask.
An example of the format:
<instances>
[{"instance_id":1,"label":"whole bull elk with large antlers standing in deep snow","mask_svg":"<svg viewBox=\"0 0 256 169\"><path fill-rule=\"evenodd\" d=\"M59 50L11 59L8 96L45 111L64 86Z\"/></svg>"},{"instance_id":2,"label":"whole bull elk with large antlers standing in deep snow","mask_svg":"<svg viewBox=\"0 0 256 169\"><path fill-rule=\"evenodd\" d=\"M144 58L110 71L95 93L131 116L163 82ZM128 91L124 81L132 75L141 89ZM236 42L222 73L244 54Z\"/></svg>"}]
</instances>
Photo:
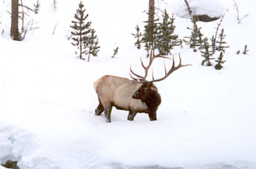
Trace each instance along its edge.
<instances>
[{"instance_id":1,"label":"whole bull elk with large antlers standing in deep snow","mask_svg":"<svg viewBox=\"0 0 256 169\"><path fill-rule=\"evenodd\" d=\"M155 58L167 57L154 55L154 51L151 50L148 66L145 66L140 58L141 64L145 70L144 76L135 74L130 67L130 76L133 80L105 75L94 82L94 90L96 90L99 98L99 106L95 109L95 115L100 116L102 112L105 111L106 121L111 122L110 113L112 107L115 106L116 109L129 111L128 120L132 121L137 113L146 113L151 121L157 120L157 109L161 103L161 96L157 92L157 87L153 82L162 81L172 74L173 71L183 66L189 66L189 64L181 65L181 56L179 55L180 62L178 66L175 66L173 58L173 66L169 71L166 70L165 66L165 76L160 79L154 79L152 75L152 80L147 81L148 68ZM136 78L134 76L136 76Z\"/></svg>"}]
</instances>

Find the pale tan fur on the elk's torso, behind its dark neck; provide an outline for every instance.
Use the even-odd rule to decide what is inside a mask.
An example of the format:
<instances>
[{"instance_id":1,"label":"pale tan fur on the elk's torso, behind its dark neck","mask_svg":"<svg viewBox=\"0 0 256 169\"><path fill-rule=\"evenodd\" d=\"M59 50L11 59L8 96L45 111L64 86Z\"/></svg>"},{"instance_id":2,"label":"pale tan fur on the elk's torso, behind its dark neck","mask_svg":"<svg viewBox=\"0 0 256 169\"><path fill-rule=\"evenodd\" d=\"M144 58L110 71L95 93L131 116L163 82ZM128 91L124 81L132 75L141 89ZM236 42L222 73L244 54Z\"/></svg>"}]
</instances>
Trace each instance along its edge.
<instances>
[{"instance_id":1,"label":"pale tan fur on the elk's torso, behind its dark neck","mask_svg":"<svg viewBox=\"0 0 256 169\"><path fill-rule=\"evenodd\" d=\"M146 103L132 98L142 84L123 77L105 75L94 82L94 90L98 94L102 106L116 106L117 109L136 112L148 112Z\"/></svg>"}]
</instances>

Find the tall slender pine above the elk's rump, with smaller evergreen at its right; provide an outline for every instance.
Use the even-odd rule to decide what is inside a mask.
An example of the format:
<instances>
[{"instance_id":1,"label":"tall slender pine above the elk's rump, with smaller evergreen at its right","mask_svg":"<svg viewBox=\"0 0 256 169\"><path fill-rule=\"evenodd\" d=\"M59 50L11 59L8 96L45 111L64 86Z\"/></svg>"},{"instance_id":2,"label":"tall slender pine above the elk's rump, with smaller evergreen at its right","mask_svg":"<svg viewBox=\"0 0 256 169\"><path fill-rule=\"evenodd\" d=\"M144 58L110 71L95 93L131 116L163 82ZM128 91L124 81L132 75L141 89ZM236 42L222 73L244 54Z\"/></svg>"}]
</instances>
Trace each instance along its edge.
<instances>
[{"instance_id":1,"label":"tall slender pine above the elk's rump, with smaller evergreen at its right","mask_svg":"<svg viewBox=\"0 0 256 169\"><path fill-rule=\"evenodd\" d=\"M75 14L76 21L72 21L74 25L70 26L75 30L71 32L72 36L75 36L72 37L75 43L72 44L78 47L79 53L75 52L75 54L77 54L80 59L83 59L82 55L87 52L86 39L88 36L87 34L91 31L91 22L85 23L88 14L85 15L86 9L83 9L83 7L82 1L80 1L79 8L76 10Z\"/></svg>"}]
</instances>

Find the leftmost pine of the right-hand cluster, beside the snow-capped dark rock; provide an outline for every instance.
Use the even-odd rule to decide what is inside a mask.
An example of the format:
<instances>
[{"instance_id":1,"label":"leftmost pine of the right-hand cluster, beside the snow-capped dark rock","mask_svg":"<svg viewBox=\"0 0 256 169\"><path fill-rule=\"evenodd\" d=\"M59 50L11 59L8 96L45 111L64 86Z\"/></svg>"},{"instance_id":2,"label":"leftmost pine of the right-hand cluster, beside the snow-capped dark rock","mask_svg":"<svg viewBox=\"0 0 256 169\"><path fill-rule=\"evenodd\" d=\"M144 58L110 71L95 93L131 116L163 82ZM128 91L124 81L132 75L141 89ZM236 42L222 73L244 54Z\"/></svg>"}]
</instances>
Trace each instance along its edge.
<instances>
[{"instance_id":1,"label":"leftmost pine of the right-hand cluster, beside the snow-capped dark rock","mask_svg":"<svg viewBox=\"0 0 256 169\"><path fill-rule=\"evenodd\" d=\"M197 51L196 47L201 47L203 44L203 34L201 34L200 29L197 27L197 18L196 17L192 17L191 19L192 23L193 23L193 28L188 28L189 30L192 30L191 32L191 36L186 36L184 37L184 42L185 44L189 45L190 48L194 49L194 52Z\"/></svg>"}]
</instances>

